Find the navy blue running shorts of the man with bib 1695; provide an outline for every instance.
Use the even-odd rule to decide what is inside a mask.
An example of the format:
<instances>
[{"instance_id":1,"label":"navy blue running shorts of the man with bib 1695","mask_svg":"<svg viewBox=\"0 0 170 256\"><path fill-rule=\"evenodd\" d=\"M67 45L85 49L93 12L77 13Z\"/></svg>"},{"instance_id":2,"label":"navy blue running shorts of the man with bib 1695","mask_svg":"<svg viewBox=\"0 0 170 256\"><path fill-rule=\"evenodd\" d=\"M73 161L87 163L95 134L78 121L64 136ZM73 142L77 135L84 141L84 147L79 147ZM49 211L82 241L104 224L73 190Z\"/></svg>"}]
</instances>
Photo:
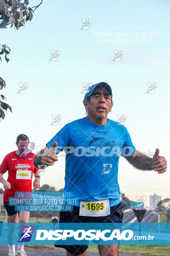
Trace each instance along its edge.
<instances>
[{"instance_id":1,"label":"navy blue running shorts of the man with bib 1695","mask_svg":"<svg viewBox=\"0 0 170 256\"><path fill-rule=\"evenodd\" d=\"M93 222L110 222L110 223L122 223L123 222L123 211L122 208L125 207L123 202L110 207L111 214L101 217L89 217L89 216L80 216L79 207L74 206L72 212L60 212L59 213L59 223L93 223ZM72 255L79 255L84 253L87 250L88 245L54 245L56 247L62 247L67 250Z\"/></svg>"}]
</instances>

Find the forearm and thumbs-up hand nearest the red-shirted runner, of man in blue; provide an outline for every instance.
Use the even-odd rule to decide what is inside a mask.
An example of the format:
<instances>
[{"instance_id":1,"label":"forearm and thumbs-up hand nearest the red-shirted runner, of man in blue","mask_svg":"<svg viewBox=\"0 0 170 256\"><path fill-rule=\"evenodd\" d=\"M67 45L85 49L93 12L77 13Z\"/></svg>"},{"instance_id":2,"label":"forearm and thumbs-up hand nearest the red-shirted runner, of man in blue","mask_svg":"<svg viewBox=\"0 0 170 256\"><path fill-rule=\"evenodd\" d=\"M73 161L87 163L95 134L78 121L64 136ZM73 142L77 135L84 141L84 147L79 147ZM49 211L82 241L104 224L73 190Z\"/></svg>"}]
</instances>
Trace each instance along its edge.
<instances>
[{"instance_id":1,"label":"forearm and thumbs-up hand nearest the red-shirted runner, of man in blue","mask_svg":"<svg viewBox=\"0 0 170 256\"><path fill-rule=\"evenodd\" d=\"M34 166L38 168L38 165L44 165L44 168L47 166L54 165L54 162L58 161L57 154L56 154L56 149L57 149L57 142L55 141L53 144L52 149L48 146L46 146L44 149L39 151L35 156L34 156ZM41 167L41 169L43 169Z\"/></svg>"}]
</instances>

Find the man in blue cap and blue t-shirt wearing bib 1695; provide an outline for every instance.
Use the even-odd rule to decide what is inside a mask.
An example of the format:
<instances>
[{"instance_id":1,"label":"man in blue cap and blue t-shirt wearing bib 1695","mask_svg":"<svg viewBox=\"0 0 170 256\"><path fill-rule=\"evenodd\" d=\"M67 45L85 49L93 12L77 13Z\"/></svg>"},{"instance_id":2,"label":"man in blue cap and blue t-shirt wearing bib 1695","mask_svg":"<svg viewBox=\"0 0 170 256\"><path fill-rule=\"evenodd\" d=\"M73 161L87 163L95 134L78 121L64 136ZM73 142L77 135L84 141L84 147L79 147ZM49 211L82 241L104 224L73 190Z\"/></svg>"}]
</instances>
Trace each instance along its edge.
<instances>
[{"instance_id":1,"label":"man in blue cap and blue t-shirt wearing bib 1695","mask_svg":"<svg viewBox=\"0 0 170 256\"><path fill-rule=\"evenodd\" d=\"M113 106L109 84L101 82L89 88L83 100L88 115L66 124L48 143L34 165L54 165L57 154L65 149L65 187L79 199L73 212L60 212L59 222L122 222L124 204L118 184L119 156L141 170L163 173L167 161L159 156L144 156L134 147L124 125L108 119ZM91 211L93 205L94 211ZM86 207L85 207L86 206ZM67 255L85 256L88 245L57 245ZM119 245L99 245L100 256L117 256Z\"/></svg>"}]
</instances>

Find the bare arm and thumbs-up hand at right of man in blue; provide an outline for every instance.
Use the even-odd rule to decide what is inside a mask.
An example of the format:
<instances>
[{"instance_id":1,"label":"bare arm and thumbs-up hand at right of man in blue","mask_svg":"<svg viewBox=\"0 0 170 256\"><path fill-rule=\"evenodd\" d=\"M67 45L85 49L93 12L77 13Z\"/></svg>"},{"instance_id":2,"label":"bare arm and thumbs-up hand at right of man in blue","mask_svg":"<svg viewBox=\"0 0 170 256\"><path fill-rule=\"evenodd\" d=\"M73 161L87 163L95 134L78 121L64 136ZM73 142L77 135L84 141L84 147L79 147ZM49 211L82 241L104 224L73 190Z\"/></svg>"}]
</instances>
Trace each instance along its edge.
<instances>
[{"instance_id":1,"label":"bare arm and thumbs-up hand at right of man in blue","mask_svg":"<svg viewBox=\"0 0 170 256\"><path fill-rule=\"evenodd\" d=\"M153 158L146 156L145 154L135 151L130 157L125 157L130 164L139 170L151 171L154 170L158 173L166 172L167 161L164 157L159 156L159 149L156 148L156 152Z\"/></svg>"}]
</instances>

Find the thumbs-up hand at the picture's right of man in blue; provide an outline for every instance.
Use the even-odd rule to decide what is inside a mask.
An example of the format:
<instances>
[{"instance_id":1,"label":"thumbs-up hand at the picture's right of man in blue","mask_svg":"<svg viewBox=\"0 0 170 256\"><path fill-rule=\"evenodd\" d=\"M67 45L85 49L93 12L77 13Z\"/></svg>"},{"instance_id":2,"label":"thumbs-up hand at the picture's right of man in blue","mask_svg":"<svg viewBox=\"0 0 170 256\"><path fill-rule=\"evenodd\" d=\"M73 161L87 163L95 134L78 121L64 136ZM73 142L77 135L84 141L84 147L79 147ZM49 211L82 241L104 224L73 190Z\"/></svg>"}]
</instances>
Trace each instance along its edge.
<instances>
[{"instance_id":1,"label":"thumbs-up hand at the picture's right of man in blue","mask_svg":"<svg viewBox=\"0 0 170 256\"><path fill-rule=\"evenodd\" d=\"M166 172L167 160L164 157L159 156L159 148L156 148L155 154L153 155L152 163L155 172Z\"/></svg>"}]
</instances>

